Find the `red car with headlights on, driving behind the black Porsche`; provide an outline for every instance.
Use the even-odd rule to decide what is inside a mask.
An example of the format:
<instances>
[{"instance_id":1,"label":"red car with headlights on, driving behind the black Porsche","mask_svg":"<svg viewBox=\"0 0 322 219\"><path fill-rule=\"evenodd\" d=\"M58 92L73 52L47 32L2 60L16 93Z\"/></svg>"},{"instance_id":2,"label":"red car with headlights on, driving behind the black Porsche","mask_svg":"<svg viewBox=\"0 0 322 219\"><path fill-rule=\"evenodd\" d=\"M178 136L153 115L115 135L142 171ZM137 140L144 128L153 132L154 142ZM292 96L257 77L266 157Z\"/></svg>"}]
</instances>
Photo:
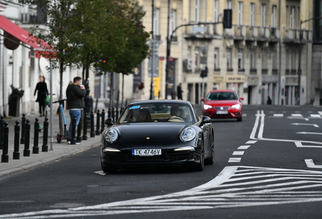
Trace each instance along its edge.
<instances>
[{"instance_id":1,"label":"red car with headlights on, driving behind the black Porsche","mask_svg":"<svg viewBox=\"0 0 322 219\"><path fill-rule=\"evenodd\" d=\"M202 98L203 116L212 119L235 118L242 121L242 100L233 90L213 90L207 94L206 98Z\"/></svg>"}]
</instances>

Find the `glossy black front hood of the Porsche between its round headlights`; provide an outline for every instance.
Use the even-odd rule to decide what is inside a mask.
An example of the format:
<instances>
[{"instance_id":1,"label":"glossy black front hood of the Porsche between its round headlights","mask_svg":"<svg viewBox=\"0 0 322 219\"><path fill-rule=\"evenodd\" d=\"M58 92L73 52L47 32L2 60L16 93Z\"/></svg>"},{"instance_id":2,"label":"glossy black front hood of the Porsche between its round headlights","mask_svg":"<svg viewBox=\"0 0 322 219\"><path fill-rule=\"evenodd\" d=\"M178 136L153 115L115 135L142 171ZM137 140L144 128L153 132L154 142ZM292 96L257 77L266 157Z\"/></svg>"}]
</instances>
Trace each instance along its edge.
<instances>
[{"instance_id":1,"label":"glossy black front hood of the Porsche between its round headlights","mask_svg":"<svg viewBox=\"0 0 322 219\"><path fill-rule=\"evenodd\" d=\"M116 127L122 138L127 141L160 141L178 136L186 126L186 123L166 122L120 124Z\"/></svg>"}]
</instances>

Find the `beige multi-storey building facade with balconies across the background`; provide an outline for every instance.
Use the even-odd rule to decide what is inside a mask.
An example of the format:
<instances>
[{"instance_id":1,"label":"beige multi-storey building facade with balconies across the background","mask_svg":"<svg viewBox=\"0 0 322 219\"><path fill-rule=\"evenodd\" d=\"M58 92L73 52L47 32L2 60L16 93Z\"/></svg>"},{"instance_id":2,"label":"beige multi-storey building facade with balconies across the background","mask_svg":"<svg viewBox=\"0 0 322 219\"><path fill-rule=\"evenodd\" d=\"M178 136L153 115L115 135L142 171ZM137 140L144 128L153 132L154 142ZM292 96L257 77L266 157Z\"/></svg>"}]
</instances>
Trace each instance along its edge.
<instances>
[{"instance_id":1,"label":"beige multi-storey building facade with balconies across the background","mask_svg":"<svg viewBox=\"0 0 322 219\"><path fill-rule=\"evenodd\" d=\"M313 24L301 22L313 16L313 1L141 0L147 30L153 2L162 98L182 83L184 99L193 103L209 90L233 89L245 104L266 104L268 96L273 104L318 104L320 89L311 89ZM223 28L224 9L232 10L232 28ZM166 72L167 37L176 27ZM142 66L149 83L147 61Z\"/></svg>"}]
</instances>

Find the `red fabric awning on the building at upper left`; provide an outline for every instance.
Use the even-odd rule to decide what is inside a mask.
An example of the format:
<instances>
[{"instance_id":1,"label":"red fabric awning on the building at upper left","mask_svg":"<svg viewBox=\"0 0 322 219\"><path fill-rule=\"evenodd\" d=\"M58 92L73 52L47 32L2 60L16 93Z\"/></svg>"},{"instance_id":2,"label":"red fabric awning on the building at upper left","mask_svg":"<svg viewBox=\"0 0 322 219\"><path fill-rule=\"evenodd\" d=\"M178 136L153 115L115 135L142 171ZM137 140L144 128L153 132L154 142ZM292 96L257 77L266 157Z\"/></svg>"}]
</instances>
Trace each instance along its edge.
<instances>
[{"instance_id":1,"label":"red fabric awning on the building at upper left","mask_svg":"<svg viewBox=\"0 0 322 219\"><path fill-rule=\"evenodd\" d=\"M30 35L30 32L11 22L2 15L0 15L0 28L15 36L15 38L17 38L19 41L31 46L35 51L36 58L46 56L46 54L50 53L44 52L45 50L51 50L52 48L48 43L36 38L33 35Z\"/></svg>"}]
</instances>

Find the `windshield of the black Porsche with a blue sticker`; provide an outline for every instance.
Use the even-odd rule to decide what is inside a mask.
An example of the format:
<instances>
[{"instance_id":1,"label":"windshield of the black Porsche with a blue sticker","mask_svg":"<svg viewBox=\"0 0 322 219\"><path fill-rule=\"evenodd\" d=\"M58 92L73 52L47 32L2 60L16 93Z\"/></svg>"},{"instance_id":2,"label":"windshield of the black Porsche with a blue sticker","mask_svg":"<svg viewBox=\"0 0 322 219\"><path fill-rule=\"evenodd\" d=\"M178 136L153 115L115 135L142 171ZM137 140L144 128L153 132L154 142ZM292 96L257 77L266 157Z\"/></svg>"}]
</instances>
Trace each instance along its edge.
<instances>
[{"instance_id":1,"label":"windshield of the black Porsche with a blue sticker","mask_svg":"<svg viewBox=\"0 0 322 219\"><path fill-rule=\"evenodd\" d=\"M175 103L144 103L128 105L117 124L141 123L141 122L189 122L195 123L192 111L187 104ZM171 120L171 116L176 116Z\"/></svg>"}]
</instances>

